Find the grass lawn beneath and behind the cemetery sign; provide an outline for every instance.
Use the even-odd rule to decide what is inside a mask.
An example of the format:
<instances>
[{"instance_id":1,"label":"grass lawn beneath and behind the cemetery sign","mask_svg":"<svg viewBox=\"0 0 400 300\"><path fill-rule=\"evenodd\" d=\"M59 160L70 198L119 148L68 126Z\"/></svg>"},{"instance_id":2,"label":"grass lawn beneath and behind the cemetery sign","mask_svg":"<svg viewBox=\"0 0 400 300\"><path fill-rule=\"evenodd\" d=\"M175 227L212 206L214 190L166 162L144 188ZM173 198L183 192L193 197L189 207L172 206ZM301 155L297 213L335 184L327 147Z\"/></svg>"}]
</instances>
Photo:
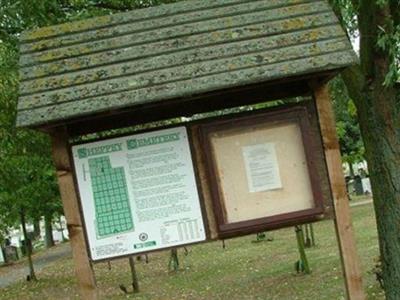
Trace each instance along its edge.
<instances>
[{"instance_id":1,"label":"grass lawn beneath and behind the cemetery sign","mask_svg":"<svg viewBox=\"0 0 400 300\"><path fill-rule=\"evenodd\" d=\"M372 204L352 208L368 299L384 299L371 272L378 256ZM181 270L167 270L169 252L137 262L141 293L124 295L130 288L128 260L95 265L101 299L345 299L344 282L332 221L314 225L317 246L307 249L311 275L296 274L298 250L293 228L269 233L272 242L253 243L255 235L179 251ZM37 283L21 282L0 290L0 299L78 299L71 259L61 259L38 274Z\"/></svg>"}]
</instances>

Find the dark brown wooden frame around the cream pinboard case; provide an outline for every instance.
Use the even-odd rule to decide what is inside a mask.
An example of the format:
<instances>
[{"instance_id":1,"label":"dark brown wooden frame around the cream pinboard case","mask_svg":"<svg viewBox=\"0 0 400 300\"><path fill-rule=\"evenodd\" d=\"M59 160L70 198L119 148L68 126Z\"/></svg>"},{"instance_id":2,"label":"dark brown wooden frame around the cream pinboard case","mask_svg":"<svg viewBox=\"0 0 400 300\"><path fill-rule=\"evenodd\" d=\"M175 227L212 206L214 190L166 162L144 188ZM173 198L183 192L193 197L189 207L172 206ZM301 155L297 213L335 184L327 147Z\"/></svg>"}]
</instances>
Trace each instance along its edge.
<instances>
[{"instance_id":1,"label":"dark brown wooden frame around the cream pinboard case","mask_svg":"<svg viewBox=\"0 0 400 300\"><path fill-rule=\"evenodd\" d=\"M321 215L324 212L323 194L315 166L316 158L312 151L314 145L317 144L315 139L320 137L311 134L311 125L308 119L309 113L306 106L296 105L275 109L273 111L255 112L251 116L236 116L223 121L217 120L200 126L200 136L205 147L204 155L211 180L212 200L220 238L256 233L262 230L276 229L321 219ZM288 122L298 124L301 130L311 189L314 196L314 207L275 216L227 223L224 211L224 199L220 196L221 186L218 184L216 160L212 154L212 145L209 138L210 134L233 128L246 128L256 124L279 124Z\"/></svg>"}]
</instances>

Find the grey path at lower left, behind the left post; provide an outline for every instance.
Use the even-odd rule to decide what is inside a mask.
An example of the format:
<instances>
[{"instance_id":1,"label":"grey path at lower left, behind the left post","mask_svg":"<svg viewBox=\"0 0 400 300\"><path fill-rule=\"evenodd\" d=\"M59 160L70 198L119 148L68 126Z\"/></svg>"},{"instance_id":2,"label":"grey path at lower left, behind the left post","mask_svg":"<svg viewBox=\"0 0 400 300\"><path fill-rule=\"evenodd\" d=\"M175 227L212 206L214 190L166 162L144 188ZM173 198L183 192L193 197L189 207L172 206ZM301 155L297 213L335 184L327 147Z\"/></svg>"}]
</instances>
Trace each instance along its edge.
<instances>
[{"instance_id":1,"label":"grey path at lower left, behind the left post","mask_svg":"<svg viewBox=\"0 0 400 300\"><path fill-rule=\"evenodd\" d=\"M63 257L71 257L69 243L58 245L50 250L40 252L33 257L35 272L40 272L46 266ZM26 262L15 263L0 268L0 289L5 288L17 281L24 280L29 274Z\"/></svg>"}]
</instances>

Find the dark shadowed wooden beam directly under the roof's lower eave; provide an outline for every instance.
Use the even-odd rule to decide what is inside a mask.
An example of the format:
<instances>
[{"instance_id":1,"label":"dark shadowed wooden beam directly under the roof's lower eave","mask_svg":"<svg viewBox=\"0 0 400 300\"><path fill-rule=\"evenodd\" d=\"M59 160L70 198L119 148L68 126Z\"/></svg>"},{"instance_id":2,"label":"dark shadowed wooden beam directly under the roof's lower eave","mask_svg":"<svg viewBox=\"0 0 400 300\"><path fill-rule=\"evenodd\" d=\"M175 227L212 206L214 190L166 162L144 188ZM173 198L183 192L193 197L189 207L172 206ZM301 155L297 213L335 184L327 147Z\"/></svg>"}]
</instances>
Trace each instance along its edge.
<instances>
[{"instance_id":1,"label":"dark shadowed wooden beam directly under the roof's lower eave","mask_svg":"<svg viewBox=\"0 0 400 300\"><path fill-rule=\"evenodd\" d=\"M93 132L131 127L161 119L191 117L198 113L301 96L309 93L309 88L304 80L304 78L296 78L296 80L291 81L249 85L244 88L211 92L184 100L165 101L159 103L159 106L150 104L140 106L140 109L114 110L105 114L75 119L68 124L68 131L71 136L75 137ZM199 97L201 97L201 101ZM54 127L54 124L51 126ZM49 130L50 127L46 129Z\"/></svg>"}]
</instances>

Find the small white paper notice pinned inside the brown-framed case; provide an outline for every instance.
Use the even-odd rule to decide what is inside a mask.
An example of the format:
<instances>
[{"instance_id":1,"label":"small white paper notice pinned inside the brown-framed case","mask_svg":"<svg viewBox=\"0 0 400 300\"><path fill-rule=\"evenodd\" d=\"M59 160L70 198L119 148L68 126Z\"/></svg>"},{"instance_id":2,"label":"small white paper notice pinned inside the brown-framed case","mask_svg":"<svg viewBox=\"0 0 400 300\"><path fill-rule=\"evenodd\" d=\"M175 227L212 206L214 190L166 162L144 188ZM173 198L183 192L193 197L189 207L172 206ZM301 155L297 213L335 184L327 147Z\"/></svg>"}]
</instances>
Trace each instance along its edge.
<instances>
[{"instance_id":1,"label":"small white paper notice pinned inside the brown-framed case","mask_svg":"<svg viewBox=\"0 0 400 300\"><path fill-rule=\"evenodd\" d=\"M250 193L282 188L273 143L242 148Z\"/></svg>"}]
</instances>

